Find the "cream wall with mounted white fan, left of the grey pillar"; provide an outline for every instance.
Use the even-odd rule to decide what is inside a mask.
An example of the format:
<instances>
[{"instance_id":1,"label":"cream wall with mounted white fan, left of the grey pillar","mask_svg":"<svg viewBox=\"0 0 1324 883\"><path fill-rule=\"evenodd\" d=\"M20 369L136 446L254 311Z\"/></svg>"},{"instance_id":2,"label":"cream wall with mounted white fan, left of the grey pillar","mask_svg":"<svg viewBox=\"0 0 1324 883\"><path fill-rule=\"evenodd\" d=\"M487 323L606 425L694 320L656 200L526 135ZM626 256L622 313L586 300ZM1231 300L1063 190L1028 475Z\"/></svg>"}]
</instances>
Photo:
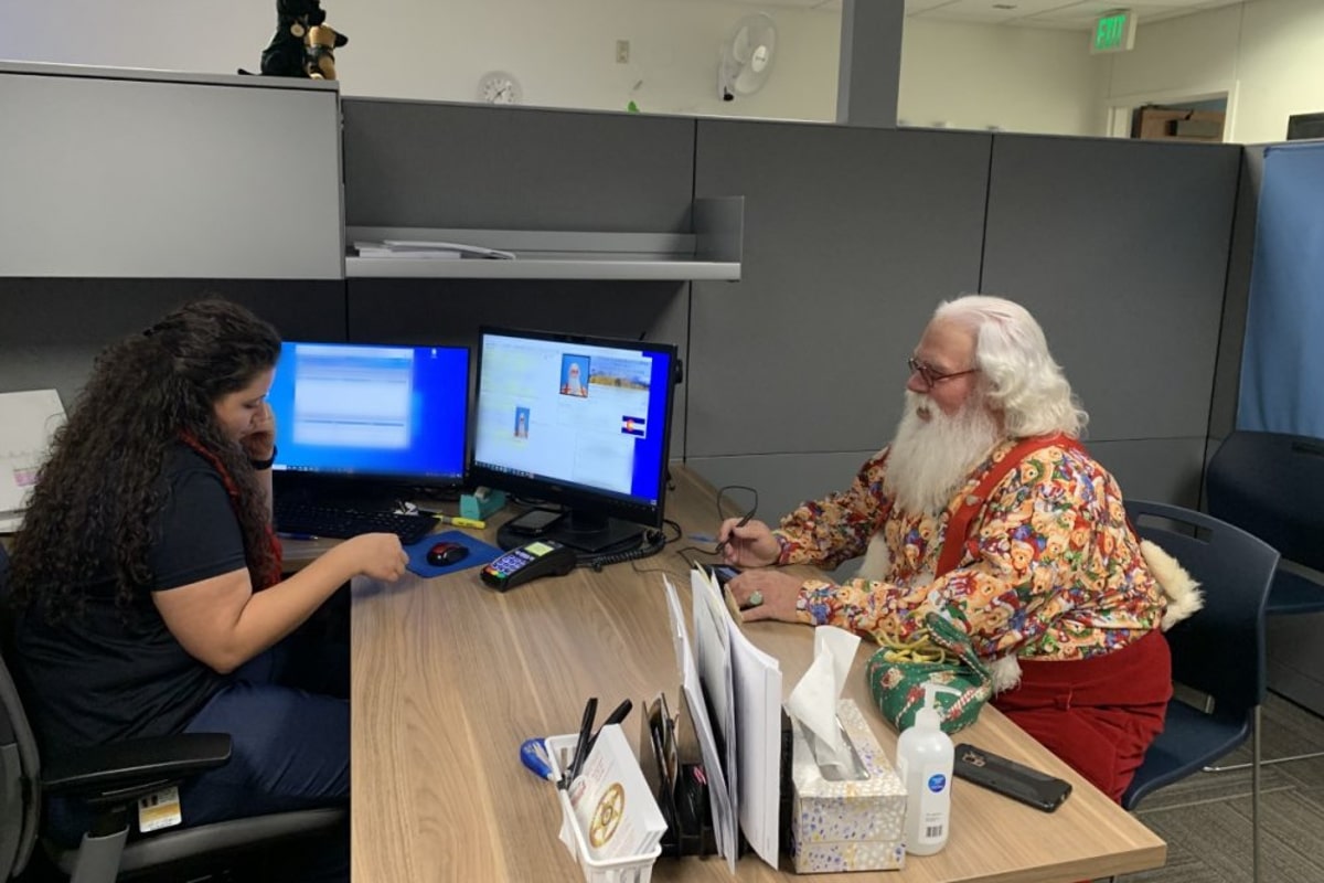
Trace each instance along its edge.
<instances>
[{"instance_id":1,"label":"cream wall with mounted white fan, left of the grey pillar","mask_svg":"<svg viewBox=\"0 0 1324 883\"><path fill-rule=\"evenodd\" d=\"M718 98L719 48L757 9L723 0L324 0L347 95L473 101L507 70L547 107L835 119L839 13L772 11L767 87ZM260 69L274 0L4 0L0 58L209 73ZM616 41L630 62L616 64Z\"/></svg>"}]
</instances>

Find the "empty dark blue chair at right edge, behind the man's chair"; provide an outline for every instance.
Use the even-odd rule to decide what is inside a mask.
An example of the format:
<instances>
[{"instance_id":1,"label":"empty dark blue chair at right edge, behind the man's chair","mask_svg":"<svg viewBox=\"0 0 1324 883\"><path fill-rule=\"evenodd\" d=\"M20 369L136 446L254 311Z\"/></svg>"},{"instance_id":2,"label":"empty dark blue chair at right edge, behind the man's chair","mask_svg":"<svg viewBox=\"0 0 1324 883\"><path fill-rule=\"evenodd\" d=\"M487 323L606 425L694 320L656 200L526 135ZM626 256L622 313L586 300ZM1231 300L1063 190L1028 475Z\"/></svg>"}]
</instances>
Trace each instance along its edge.
<instances>
[{"instance_id":1,"label":"empty dark blue chair at right edge, behind the man's chair","mask_svg":"<svg viewBox=\"0 0 1324 883\"><path fill-rule=\"evenodd\" d=\"M1324 571L1324 441L1234 432L1209 462L1205 491L1210 515L1250 531L1283 556L1268 593L1268 616L1324 610L1324 582L1301 572ZM1260 764L1320 756L1324 751ZM1210 767L1209 772L1243 767Z\"/></svg>"}]
</instances>

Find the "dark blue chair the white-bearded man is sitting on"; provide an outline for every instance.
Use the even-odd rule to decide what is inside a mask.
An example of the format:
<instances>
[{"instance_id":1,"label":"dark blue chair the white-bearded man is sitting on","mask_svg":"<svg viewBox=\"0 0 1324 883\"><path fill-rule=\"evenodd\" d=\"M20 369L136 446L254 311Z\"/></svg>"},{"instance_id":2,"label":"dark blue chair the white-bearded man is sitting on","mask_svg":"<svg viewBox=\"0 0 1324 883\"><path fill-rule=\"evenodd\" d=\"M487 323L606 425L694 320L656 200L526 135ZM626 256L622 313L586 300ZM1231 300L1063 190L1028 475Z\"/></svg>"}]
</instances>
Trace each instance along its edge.
<instances>
[{"instance_id":1,"label":"dark blue chair the white-bearded man is sitting on","mask_svg":"<svg viewBox=\"0 0 1324 883\"><path fill-rule=\"evenodd\" d=\"M1200 581L1205 606L1168 633L1173 680L1206 696L1196 708L1168 703L1121 806L1201 770L1251 739L1251 866L1259 880L1259 714L1267 692L1264 609L1278 552L1251 534L1202 512L1127 500L1143 539L1153 540Z\"/></svg>"}]
</instances>

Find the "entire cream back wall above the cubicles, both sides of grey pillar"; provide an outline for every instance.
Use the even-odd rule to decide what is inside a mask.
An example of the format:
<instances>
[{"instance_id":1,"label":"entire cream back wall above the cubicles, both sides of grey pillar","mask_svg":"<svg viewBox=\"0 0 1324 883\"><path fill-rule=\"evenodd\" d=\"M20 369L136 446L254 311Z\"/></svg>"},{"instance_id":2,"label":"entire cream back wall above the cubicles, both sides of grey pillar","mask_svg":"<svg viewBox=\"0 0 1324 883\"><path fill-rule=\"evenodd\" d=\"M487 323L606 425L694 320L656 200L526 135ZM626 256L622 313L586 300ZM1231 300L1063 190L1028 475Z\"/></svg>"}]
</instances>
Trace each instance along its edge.
<instances>
[{"instance_id":1,"label":"entire cream back wall above the cubicles, both sides of grey pillar","mask_svg":"<svg viewBox=\"0 0 1324 883\"><path fill-rule=\"evenodd\" d=\"M769 9L777 61L757 95L716 97L718 48L759 7L730 0L324 0L350 36L347 95L471 101L483 71L528 105L834 120L841 13ZM73 23L73 24L71 24ZM274 0L4 0L0 58L209 73L257 70ZM616 41L630 62L616 64ZM916 126L1095 134L1084 36L907 19L900 116Z\"/></svg>"}]
</instances>

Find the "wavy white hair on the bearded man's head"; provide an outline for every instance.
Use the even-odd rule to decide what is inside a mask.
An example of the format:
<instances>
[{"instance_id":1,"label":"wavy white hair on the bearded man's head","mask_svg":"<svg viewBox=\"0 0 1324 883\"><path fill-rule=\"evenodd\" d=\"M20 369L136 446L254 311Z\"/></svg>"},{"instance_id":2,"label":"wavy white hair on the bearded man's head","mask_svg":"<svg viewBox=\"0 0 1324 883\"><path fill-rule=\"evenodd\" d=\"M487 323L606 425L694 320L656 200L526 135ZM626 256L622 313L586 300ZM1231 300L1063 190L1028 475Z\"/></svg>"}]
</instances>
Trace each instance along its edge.
<instances>
[{"instance_id":1,"label":"wavy white hair on the bearded man's head","mask_svg":"<svg viewBox=\"0 0 1324 883\"><path fill-rule=\"evenodd\" d=\"M933 319L955 322L974 334L974 367L1008 436L1080 437L1090 414L1071 392L1062 365L1053 360L1043 328L1025 307L1006 298L967 294L939 304Z\"/></svg>"}]
</instances>

